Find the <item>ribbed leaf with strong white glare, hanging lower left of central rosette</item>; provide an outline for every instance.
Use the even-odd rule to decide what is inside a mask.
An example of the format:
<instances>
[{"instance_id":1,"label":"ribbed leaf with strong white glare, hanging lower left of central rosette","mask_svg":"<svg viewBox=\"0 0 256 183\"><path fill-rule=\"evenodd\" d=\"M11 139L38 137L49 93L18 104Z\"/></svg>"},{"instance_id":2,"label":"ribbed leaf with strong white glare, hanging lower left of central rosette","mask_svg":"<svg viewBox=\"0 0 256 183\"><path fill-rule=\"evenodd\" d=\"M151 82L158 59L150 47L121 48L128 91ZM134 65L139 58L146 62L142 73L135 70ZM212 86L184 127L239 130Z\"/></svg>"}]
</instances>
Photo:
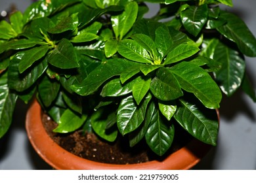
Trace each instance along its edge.
<instances>
[{"instance_id":1,"label":"ribbed leaf with strong white glare, hanging lower left of central rosette","mask_svg":"<svg viewBox=\"0 0 256 183\"><path fill-rule=\"evenodd\" d=\"M144 101L137 105L133 96L124 98L117 110L117 127L121 135L134 131L143 122L146 108L151 96L145 97Z\"/></svg>"}]
</instances>

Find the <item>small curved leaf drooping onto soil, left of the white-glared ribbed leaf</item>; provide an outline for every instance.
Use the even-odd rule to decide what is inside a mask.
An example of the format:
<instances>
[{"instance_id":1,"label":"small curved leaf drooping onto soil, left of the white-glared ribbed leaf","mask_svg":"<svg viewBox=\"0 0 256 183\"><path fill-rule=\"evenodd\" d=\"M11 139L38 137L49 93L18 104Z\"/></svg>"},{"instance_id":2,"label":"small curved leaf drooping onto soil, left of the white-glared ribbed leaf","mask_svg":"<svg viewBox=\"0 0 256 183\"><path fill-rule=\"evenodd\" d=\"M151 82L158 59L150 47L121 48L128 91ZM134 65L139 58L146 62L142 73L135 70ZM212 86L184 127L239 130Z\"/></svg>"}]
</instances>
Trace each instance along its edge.
<instances>
[{"instance_id":1,"label":"small curved leaf drooping onto soil, left of the white-glared ribbed leaf","mask_svg":"<svg viewBox=\"0 0 256 183\"><path fill-rule=\"evenodd\" d=\"M102 139L105 139L109 142L114 142L117 138L118 131L116 128L106 129L107 119L105 116L108 116L108 114L106 114L104 108L96 110L96 112L94 112L91 116L91 125L96 134L99 135Z\"/></svg>"}]
</instances>

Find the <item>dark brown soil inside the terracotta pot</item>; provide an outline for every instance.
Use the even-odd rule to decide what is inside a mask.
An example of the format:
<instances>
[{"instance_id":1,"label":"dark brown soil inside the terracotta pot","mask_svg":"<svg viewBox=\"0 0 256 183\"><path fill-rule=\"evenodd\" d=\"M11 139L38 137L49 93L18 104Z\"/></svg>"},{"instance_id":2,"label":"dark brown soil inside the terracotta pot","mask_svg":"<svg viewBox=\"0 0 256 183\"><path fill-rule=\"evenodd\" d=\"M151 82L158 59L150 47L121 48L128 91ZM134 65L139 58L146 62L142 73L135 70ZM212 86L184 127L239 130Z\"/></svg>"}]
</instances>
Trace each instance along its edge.
<instances>
[{"instance_id":1,"label":"dark brown soil inside the terracotta pot","mask_svg":"<svg viewBox=\"0 0 256 183\"><path fill-rule=\"evenodd\" d=\"M164 156L156 156L143 141L137 144L137 146L130 148L129 142L125 137L119 138L120 141L110 143L102 141L94 133L84 134L82 131L67 134L54 133L53 129L57 124L47 114L43 114L42 117L43 125L49 136L62 148L81 158L113 164L143 163L153 159L161 161L162 158L165 158ZM177 139L179 139L179 142ZM169 152L166 154L179 150L190 140L191 137L188 133L179 128L179 126L175 126L175 139Z\"/></svg>"}]
</instances>

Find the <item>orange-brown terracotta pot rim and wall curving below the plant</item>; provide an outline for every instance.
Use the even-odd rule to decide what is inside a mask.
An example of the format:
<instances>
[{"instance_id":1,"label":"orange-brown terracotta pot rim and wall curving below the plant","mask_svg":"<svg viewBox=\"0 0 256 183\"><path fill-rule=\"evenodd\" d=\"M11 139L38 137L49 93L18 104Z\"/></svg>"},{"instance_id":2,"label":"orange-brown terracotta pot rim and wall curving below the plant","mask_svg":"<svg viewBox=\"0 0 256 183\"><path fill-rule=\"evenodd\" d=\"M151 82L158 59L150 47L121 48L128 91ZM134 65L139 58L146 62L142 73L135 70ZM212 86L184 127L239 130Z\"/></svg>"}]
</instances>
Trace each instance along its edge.
<instances>
[{"instance_id":1,"label":"orange-brown terracotta pot rim and wall curving below the plant","mask_svg":"<svg viewBox=\"0 0 256 183\"><path fill-rule=\"evenodd\" d=\"M41 121L41 107L37 101L33 101L28 109L26 131L37 154L54 169L190 169L211 148L211 146L194 139L187 146L170 154L163 161L149 161L129 165L113 165L90 161L64 150L47 135Z\"/></svg>"}]
</instances>

